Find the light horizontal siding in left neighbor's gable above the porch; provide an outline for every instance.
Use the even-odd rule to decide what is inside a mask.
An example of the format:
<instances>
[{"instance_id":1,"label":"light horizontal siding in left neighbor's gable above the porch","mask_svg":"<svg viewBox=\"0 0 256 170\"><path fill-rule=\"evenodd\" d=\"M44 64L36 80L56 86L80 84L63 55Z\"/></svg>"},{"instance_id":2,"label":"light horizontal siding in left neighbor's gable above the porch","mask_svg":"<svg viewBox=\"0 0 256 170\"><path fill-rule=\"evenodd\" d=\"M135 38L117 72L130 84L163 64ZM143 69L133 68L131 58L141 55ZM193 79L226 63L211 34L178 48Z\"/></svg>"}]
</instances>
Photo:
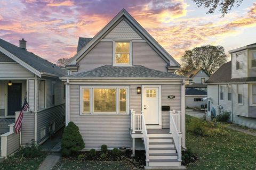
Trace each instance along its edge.
<instances>
[{"instance_id":1,"label":"light horizontal siding in left neighbor's gable above the porch","mask_svg":"<svg viewBox=\"0 0 256 170\"><path fill-rule=\"evenodd\" d=\"M34 77L34 74L18 63L0 64L0 78Z\"/></svg>"}]
</instances>

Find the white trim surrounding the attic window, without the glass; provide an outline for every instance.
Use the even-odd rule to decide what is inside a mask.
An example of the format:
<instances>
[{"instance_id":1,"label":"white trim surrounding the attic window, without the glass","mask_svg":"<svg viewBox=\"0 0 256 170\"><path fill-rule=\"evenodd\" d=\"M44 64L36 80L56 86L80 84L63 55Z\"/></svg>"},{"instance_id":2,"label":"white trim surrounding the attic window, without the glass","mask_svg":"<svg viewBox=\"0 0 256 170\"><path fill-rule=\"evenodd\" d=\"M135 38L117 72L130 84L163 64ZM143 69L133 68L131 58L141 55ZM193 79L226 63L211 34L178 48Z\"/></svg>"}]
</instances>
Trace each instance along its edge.
<instances>
[{"instance_id":1,"label":"white trim surrounding the attic window, without the glass","mask_svg":"<svg viewBox=\"0 0 256 170\"><path fill-rule=\"evenodd\" d=\"M130 58L129 64L116 64L116 42L129 42L130 43ZM113 40L113 66L132 66L132 40Z\"/></svg>"}]
</instances>

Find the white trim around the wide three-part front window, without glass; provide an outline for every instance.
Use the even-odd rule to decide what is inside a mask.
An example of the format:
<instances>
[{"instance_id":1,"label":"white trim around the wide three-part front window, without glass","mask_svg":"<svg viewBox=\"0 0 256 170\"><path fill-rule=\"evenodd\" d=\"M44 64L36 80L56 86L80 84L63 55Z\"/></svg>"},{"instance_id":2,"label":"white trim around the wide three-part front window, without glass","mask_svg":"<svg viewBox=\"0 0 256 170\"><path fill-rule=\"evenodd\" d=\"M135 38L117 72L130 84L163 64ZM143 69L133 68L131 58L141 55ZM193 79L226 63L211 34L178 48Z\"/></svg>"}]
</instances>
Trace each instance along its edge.
<instances>
[{"instance_id":1,"label":"white trim around the wide three-part front window, without glass","mask_svg":"<svg viewBox=\"0 0 256 170\"><path fill-rule=\"evenodd\" d=\"M93 112L93 89L94 88L104 88L104 89L111 89L116 88L116 112ZM119 113L119 89L126 88L126 113ZM83 89L90 89L90 113L83 112ZM81 86L80 87L80 112L79 115L129 115L130 114L130 87L129 86Z\"/></svg>"}]
</instances>

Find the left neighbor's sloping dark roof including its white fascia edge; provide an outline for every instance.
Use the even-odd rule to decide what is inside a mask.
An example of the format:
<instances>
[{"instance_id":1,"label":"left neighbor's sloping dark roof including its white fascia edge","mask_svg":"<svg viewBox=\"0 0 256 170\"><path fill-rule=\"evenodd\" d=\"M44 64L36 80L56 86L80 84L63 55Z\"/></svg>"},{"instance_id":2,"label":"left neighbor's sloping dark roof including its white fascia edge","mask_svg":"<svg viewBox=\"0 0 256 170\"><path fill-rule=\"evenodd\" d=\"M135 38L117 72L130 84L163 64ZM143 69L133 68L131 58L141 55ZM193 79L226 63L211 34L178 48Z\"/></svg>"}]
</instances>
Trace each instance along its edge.
<instances>
[{"instance_id":1,"label":"left neighbor's sloping dark roof including its white fascia edge","mask_svg":"<svg viewBox=\"0 0 256 170\"><path fill-rule=\"evenodd\" d=\"M5 57L11 58L11 60L24 66L29 71L36 74L38 77L42 75L50 75L53 77L61 77L66 74L65 70L62 70L57 65L44 60L43 58L28 52L25 49L17 47L0 38L0 52Z\"/></svg>"}]
</instances>

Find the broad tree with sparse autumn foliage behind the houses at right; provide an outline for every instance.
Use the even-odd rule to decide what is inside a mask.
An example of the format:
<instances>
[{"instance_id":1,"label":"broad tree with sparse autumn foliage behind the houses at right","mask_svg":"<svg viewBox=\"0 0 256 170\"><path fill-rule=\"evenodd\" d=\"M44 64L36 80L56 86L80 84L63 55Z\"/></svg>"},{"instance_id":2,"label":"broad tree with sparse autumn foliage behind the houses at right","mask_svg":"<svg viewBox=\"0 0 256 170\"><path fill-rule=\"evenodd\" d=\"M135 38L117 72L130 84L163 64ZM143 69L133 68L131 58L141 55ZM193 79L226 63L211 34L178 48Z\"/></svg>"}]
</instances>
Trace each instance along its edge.
<instances>
[{"instance_id":1,"label":"broad tree with sparse autumn foliage behind the houses at right","mask_svg":"<svg viewBox=\"0 0 256 170\"><path fill-rule=\"evenodd\" d=\"M185 74L196 69L203 69L206 74L213 74L219 67L227 62L227 55L222 46L206 45L186 50L181 57L179 73Z\"/></svg>"}]
</instances>

